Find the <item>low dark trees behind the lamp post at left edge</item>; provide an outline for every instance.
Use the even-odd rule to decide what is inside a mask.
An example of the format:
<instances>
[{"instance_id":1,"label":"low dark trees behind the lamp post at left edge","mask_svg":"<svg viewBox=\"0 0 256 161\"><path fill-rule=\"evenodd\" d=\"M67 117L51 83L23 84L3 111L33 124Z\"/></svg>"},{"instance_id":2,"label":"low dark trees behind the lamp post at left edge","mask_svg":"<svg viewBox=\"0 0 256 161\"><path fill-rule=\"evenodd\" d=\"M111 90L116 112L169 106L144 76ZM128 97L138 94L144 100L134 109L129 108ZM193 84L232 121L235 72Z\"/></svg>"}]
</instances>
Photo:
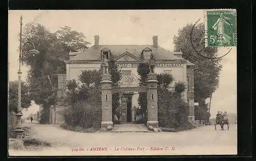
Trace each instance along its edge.
<instances>
[{"instance_id":1,"label":"low dark trees behind the lamp post at left edge","mask_svg":"<svg viewBox=\"0 0 256 161\"><path fill-rule=\"evenodd\" d=\"M18 81L9 82L9 98L8 98L8 109L9 111L17 112L18 107ZM31 106L31 97L29 93L28 84L22 82L21 86L21 107L28 108Z\"/></svg>"}]
</instances>

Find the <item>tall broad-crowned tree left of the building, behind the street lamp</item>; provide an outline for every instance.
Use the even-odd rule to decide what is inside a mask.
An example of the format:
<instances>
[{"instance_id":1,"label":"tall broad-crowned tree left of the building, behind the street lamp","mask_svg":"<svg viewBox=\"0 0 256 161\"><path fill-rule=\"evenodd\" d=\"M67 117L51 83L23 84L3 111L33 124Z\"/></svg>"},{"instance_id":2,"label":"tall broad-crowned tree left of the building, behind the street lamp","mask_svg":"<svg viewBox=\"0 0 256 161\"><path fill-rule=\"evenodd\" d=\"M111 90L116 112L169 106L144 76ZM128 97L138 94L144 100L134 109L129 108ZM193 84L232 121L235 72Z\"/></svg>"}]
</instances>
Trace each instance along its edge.
<instances>
[{"instance_id":1,"label":"tall broad-crowned tree left of the building, behind the street lamp","mask_svg":"<svg viewBox=\"0 0 256 161\"><path fill-rule=\"evenodd\" d=\"M40 123L48 123L50 105L56 103L56 91L52 89L48 75L56 88L57 74L66 73L64 60L69 58L69 52L85 50L89 42L82 33L69 27L51 33L40 24L27 24L23 31L22 44L31 41L40 52L34 57L24 52L23 62L30 66L28 83L31 96L36 104L43 106ZM31 47L27 44L24 51L29 49Z\"/></svg>"}]
</instances>

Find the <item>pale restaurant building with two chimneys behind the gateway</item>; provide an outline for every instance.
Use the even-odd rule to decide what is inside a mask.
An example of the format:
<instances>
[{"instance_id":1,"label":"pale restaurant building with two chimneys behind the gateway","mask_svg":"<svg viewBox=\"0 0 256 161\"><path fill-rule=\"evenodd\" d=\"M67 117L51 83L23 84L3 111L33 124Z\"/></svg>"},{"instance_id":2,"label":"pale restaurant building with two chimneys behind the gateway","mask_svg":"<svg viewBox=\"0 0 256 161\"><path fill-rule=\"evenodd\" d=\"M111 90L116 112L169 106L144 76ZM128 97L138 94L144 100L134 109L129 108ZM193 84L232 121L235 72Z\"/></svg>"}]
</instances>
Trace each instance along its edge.
<instances>
[{"instance_id":1,"label":"pale restaurant building with two chimneys behind the gateway","mask_svg":"<svg viewBox=\"0 0 256 161\"><path fill-rule=\"evenodd\" d=\"M175 81L187 83L187 89L184 92L184 99L189 104L189 118L192 123L195 121L194 110L194 66L195 64L182 58L182 52L170 52L158 45L158 36L153 36L152 45L100 45L99 36L95 35L95 44L83 51L70 52L70 59L66 61L67 73L66 80L78 79L81 71L99 70L102 56L110 60L115 60L122 70L122 84L126 87L129 85L138 85L139 76L137 66L143 61L148 61L153 54L156 59L155 73L170 73L175 77ZM63 77L59 76L59 77ZM59 82L64 78L60 78ZM60 84L59 84L60 85ZM65 89L59 87L59 95L65 95ZM122 117L121 122L133 122L135 120L133 107L138 107L138 92L123 92L122 98Z\"/></svg>"}]
</instances>

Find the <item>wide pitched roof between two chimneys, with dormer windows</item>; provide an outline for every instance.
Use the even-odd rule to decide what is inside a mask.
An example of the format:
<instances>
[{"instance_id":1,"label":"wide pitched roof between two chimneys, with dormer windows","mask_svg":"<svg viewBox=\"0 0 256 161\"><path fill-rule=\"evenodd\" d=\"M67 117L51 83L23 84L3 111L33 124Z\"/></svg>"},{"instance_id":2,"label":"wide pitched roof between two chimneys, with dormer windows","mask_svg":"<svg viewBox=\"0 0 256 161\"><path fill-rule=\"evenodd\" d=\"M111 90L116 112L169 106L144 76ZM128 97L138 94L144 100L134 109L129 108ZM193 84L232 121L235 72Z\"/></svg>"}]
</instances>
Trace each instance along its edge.
<instances>
[{"instance_id":1,"label":"wide pitched roof between two chimneys, with dormer windows","mask_svg":"<svg viewBox=\"0 0 256 161\"><path fill-rule=\"evenodd\" d=\"M94 49L94 46L92 46L71 58L71 60L101 60L100 51L104 48L111 51L110 59L115 59L126 51L141 59L143 49L150 48L156 60L185 60L175 56L174 52L166 51L161 47L154 48L153 45L99 45L98 49Z\"/></svg>"}]
</instances>

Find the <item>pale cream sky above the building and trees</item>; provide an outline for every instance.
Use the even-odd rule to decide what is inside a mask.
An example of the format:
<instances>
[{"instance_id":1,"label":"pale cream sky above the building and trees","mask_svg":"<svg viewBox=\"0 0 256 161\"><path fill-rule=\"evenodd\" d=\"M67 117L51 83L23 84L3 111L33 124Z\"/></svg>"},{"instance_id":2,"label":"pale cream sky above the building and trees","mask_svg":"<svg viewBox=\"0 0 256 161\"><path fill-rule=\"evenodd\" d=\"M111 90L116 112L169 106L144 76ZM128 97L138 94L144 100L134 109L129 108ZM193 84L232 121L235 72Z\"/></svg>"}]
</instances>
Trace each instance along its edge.
<instances>
[{"instance_id":1,"label":"pale cream sky above the building and trees","mask_svg":"<svg viewBox=\"0 0 256 161\"><path fill-rule=\"evenodd\" d=\"M8 56L9 81L17 80L20 15L23 27L39 23L55 32L69 26L82 32L86 40L94 44L94 35L99 35L100 44L152 44L152 36L158 35L158 45L173 51L173 38L187 24L204 21L204 10L9 10ZM90 47L89 45L89 47ZM229 49L220 48L222 56ZM236 113L237 109L237 49L232 48L223 57L219 88L212 95L210 113L217 111ZM26 80L28 67L21 68L22 80ZM208 101L208 100L207 100ZM28 113L35 113L39 106L34 103Z\"/></svg>"}]
</instances>

